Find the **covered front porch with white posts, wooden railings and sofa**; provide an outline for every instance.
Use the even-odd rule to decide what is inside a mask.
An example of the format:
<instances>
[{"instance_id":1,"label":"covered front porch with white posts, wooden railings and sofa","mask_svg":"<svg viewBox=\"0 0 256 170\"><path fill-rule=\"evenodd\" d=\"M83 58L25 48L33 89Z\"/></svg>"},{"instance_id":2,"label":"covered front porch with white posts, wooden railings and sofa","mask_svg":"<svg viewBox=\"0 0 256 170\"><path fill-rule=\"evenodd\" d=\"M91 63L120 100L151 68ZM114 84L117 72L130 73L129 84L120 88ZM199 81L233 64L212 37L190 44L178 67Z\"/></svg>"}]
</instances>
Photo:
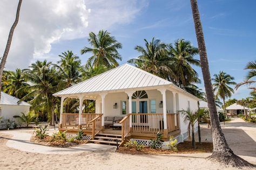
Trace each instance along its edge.
<instances>
[{"instance_id":1,"label":"covered front porch with white posts, wooden railings and sofa","mask_svg":"<svg viewBox=\"0 0 256 170\"><path fill-rule=\"evenodd\" d=\"M59 130L83 130L92 139L98 133L119 134L122 141L127 136L149 139L161 132L167 139L180 132L178 97L175 90L163 86L61 96ZM78 114L63 113L65 98L79 99ZM96 113L83 112L86 99L95 101Z\"/></svg>"}]
</instances>

